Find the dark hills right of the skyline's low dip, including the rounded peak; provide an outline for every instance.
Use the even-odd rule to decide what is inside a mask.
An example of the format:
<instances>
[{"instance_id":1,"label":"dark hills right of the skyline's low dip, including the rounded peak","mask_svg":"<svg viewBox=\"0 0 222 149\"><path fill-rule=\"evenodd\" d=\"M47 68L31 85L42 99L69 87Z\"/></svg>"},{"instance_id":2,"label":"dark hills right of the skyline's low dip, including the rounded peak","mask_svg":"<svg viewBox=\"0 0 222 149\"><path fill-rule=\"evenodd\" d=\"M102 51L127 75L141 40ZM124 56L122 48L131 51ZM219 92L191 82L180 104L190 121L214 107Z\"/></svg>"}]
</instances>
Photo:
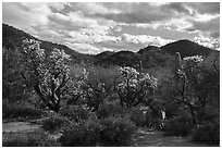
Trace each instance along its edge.
<instances>
[{"instance_id":1,"label":"dark hills right of the skyline's low dip, including the rounded peak","mask_svg":"<svg viewBox=\"0 0 222 149\"><path fill-rule=\"evenodd\" d=\"M184 58L196 54L208 55L212 51L214 50L189 40L178 40L162 47L148 46L139 49L138 52L102 52L97 55L98 59L96 64L137 66L139 61L141 61L141 66L149 69L172 65L176 52L180 52L182 58Z\"/></svg>"}]
</instances>

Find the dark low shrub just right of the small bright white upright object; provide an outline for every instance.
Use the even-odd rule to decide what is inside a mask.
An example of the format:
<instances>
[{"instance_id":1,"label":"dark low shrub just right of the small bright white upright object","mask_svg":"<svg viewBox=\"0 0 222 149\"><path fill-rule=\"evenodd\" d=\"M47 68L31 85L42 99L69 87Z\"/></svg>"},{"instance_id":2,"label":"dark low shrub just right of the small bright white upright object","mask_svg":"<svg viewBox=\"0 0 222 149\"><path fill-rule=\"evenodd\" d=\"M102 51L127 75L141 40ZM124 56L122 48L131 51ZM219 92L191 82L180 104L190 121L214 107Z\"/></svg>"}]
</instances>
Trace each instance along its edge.
<instances>
[{"instance_id":1,"label":"dark low shrub just right of the small bright white upright object","mask_svg":"<svg viewBox=\"0 0 222 149\"><path fill-rule=\"evenodd\" d=\"M189 116L180 115L165 123L165 135L186 136L192 132L193 122Z\"/></svg>"}]
</instances>

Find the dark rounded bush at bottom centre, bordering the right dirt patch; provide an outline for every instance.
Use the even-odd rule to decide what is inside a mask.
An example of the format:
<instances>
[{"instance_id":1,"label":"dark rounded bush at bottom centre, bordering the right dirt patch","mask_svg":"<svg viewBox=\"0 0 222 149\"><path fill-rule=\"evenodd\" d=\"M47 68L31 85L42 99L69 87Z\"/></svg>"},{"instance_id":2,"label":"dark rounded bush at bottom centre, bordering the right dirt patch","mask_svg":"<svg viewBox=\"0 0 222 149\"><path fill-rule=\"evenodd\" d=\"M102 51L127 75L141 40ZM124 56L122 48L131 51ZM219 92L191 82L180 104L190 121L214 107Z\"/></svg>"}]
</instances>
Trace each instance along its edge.
<instances>
[{"instance_id":1,"label":"dark rounded bush at bottom centre, bordering the right dirt patch","mask_svg":"<svg viewBox=\"0 0 222 149\"><path fill-rule=\"evenodd\" d=\"M100 121L100 145L104 147L128 146L135 132L135 124L126 117L110 116Z\"/></svg>"}]
</instances>

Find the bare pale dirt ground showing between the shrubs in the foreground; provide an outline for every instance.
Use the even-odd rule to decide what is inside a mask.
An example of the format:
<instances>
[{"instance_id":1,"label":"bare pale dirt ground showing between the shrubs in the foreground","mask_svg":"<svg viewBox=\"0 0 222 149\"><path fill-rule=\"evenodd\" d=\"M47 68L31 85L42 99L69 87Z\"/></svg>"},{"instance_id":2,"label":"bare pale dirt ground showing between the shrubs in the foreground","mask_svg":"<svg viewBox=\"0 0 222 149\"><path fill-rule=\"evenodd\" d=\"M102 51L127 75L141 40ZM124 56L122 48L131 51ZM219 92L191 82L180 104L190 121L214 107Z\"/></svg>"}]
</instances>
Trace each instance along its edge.
<instances>
[{"instance_id":1,"label":"bare pale dirt ground showing between the shrubs in the foreground","mask_svg":"<svg viewBox=\"0 0 222 149\"><path fill-rule=\"evenodd\" d=\"M4 133L20 133L41 129L40 124L27 122L9 122L2 124L3 136ZM51 134L51 137L58 138L58 134ZM208 147L203 144L194 144L190 138L163 136L163 132L149 132L146 129L138 129L134 136L134 147Z\"/></svg>"}]
</instances>

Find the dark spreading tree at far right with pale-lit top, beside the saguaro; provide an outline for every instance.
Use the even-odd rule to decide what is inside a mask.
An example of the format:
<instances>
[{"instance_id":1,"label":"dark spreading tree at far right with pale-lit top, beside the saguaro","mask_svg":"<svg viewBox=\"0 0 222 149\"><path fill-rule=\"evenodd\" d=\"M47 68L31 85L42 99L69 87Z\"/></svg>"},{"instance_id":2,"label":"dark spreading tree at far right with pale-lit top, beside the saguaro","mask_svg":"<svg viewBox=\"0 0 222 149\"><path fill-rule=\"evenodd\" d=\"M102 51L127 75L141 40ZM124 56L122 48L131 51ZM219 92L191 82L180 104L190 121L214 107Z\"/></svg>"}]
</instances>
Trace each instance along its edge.
<instances>
[{"instance_id":1,"label":"dark spreading tree at far right with pale-lit top, beside the saguaro","mask_svg":"<svg viewBox=\"0 0 222 149\"><path fill-rule=\"evenodd\" d=\"M211 104L212 94L219 97L215 94L220 88L219 63L211 60L212 55L184 58L174 79L171 79L171 98L181 103L181 108L189 109L194 124L198 111Z\"/></svg>"}]
</instances>

